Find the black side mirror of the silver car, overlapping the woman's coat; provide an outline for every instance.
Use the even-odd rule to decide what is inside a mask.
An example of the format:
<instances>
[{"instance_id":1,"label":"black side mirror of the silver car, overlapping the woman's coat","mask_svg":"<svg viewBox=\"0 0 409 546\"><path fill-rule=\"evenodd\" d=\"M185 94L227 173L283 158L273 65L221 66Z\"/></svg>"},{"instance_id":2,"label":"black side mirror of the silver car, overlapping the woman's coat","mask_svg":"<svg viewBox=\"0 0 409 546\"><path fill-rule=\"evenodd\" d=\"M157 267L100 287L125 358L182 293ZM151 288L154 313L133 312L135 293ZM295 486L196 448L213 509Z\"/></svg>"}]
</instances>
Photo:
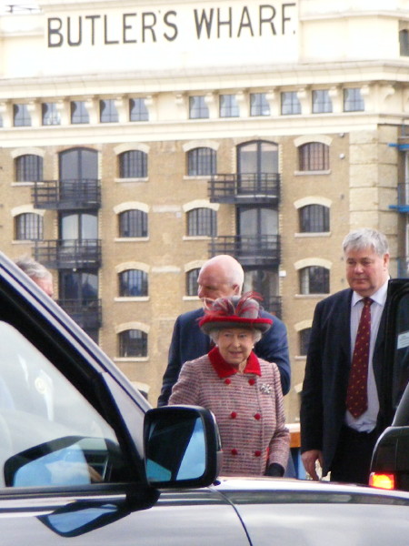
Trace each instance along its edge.
<instances>
[{"instance_id":1,"label":"black side mirror of the silver car, overlapping the woman's coat","mask_svg":"<svg viewBox=\"0 0 409 546\"><path fill-rule=\"evenodd\" d=\"M145 470L156 488L205 487L221 468L219 430L211 411L166 406L145 414Z\"/></svg>"}]
</instances>

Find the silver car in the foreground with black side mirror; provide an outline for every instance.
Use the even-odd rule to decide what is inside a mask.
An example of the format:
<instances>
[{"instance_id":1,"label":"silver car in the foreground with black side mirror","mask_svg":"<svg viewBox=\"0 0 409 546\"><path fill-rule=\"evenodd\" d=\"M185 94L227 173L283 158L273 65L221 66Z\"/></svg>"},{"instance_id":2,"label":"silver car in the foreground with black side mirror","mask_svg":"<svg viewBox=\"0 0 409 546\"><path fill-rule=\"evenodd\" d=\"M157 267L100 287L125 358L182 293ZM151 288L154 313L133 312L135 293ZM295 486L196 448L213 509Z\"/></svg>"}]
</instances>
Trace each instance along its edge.
<instances>
[{"instance_id":1,"label":"silver car in the foreground with black side mirror","mask_svg":"<svg viewBox=\"0 0 409 546\"><path fill-rule=\"evenodd\" d=\"M2 546L408 542L409 493L218 476L213 415L152 409L3 255L0 434Z\"/></svg>"}]
</instances>

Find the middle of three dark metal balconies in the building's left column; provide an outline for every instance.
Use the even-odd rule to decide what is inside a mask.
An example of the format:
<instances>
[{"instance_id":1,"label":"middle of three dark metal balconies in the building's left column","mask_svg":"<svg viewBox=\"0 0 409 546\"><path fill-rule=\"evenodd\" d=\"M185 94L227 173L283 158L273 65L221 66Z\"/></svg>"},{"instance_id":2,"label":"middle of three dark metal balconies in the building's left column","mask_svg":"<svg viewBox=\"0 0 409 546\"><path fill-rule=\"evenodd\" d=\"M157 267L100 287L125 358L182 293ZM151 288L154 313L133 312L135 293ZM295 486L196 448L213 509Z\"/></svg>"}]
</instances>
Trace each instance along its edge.
<instances>
[{"instance_id":1,"label":"middle of three dark metal balconies in the building's left column","mask_svg":"<svg viewBox=\"0 0 409 546\"><path fill-rule=\"evenodd\" d=\"M101 267L99 239L54 239L35 241L35 259L50 269Z\"/></svg>"}]
</instances>

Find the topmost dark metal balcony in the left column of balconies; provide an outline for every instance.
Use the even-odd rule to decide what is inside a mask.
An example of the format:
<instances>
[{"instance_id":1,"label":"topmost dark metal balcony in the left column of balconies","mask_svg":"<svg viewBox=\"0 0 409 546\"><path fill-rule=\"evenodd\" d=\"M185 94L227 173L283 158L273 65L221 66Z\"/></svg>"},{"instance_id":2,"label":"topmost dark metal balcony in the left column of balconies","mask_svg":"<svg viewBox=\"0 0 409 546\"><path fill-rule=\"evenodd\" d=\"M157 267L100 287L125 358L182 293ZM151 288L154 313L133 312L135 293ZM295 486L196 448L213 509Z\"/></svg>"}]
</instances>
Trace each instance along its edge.
<instances>
[{"instance_id":1,"label":"topmost dark metal balcony in the left column of balconies","mask_svg":"<svg viewBox=\"0 0 409 546\"><path fill-rule=\"evenodd\" d=\"M35 208L95 209L101 207L101 185L94 178L35 182L32 199Z\"/></svg>"}]
</instances>

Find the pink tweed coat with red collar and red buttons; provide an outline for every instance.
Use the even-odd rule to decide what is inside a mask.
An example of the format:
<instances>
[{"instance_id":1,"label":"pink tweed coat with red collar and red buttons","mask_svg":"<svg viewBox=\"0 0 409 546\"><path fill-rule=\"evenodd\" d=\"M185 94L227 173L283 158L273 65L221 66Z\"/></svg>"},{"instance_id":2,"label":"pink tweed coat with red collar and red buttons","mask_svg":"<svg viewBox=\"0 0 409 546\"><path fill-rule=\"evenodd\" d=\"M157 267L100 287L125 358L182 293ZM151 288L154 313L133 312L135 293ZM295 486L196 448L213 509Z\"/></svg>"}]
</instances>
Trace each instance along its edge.
<instances>
[{"instance_id":1,"label":"pink tweed coat with red collar and red buttons","mask_svg":"<svg viewBox=\"0 0 409 546\"><path fill-rule=\"evenodd\" d=\"M232 367L218 369L208 355L185 362L169 404L193 404L213 411L222 439L221 475L261 476L273 462L285 469L290 433L285 428L275 364L257 359L254 353L244 373Z\"/></svg>"}]
</instances>

